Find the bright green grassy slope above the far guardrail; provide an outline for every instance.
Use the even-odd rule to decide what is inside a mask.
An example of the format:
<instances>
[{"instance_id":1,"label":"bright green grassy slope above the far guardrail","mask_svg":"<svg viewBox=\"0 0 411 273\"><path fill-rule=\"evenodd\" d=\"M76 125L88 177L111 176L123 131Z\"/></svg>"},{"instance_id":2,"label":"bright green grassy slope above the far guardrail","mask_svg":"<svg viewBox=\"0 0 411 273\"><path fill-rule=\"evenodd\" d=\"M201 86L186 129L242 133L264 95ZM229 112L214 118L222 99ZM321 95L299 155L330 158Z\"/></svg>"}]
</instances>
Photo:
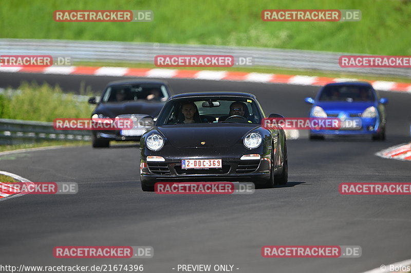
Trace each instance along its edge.
<instances>
[{"instance_id":1,"label":"bright green grassy slope above the far guardrail","mask_svg":"<svg viewBox=\"0 0 411 273\"><path fill-rule=\"evenodd\" d=\"M54 10L153 10L149 23L58 23ZM264 9L360 9L360 22L264 22ZM0 37L253 46L411 55L405 0L2 1Z\"/></svg>"}]
</instances>

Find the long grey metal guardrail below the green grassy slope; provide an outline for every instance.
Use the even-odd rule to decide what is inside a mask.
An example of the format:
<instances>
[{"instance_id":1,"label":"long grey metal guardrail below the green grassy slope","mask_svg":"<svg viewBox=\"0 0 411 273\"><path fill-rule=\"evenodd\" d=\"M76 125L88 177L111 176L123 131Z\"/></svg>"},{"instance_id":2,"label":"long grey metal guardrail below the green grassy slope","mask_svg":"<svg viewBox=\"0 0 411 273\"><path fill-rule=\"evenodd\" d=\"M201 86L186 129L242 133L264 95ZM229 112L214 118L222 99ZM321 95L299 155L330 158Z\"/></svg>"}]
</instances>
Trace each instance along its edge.
<instances>
[{"instance_id":1,"label":"long grey metal guardrail below the green grassy slope","mask_svg":"<svg viewBox=\"0 0 411 273\"><path fill-rule=\"evenodd\" d=\"M255 66L349 72L411 77L409 68L341 68L341 55L309 50L252 47L196 46L116 41L74 41L47 39L0 39L0 54L33 54L71 57L72 61L126 61L154 64L156 55L233 55L253 57ZM1 68L0 68L1 71Z\"/></svg>"}]
</instances>

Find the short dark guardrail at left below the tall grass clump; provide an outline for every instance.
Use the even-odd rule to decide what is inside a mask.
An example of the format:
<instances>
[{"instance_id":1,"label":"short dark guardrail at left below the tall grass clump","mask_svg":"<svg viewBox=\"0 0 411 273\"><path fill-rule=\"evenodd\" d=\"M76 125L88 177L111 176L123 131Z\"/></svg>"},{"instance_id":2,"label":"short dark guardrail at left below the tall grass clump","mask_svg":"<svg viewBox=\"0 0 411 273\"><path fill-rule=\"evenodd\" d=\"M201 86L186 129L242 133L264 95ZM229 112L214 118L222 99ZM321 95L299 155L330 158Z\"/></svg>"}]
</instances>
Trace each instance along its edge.
<instances>
[{"instance_id":1,"label":"short dark guardrail at left below the tall grass clump","mask_svg":"<svg viewBox=\"0 0 411 273\"><path fill-rule=\"evenodd\" d=\"M52 122L0 119L0 144L36 143L44 140L91 140L90 131L54 130Z\"/></svg>"}]
</instances>

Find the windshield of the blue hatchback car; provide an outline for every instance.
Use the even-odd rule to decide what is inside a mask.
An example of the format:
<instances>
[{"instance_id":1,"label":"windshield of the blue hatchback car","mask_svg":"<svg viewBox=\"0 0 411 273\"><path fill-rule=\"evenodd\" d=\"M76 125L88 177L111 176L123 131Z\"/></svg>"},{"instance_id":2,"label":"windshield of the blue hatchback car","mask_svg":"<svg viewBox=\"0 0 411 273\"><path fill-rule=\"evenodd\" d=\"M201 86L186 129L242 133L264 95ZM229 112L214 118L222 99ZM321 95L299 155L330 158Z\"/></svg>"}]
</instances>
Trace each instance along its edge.
<instances>
[{"instance_id":1,"label":"windshield of the blue hatchback car","mask_svg":"<svg viewBox=\"0 0 411 273\"><path fill-rule=\"evenodd\" d=\"M319 101L373 101L374 92L367 86L327 86L319 97Z\"/></svg>"}]
</instances>

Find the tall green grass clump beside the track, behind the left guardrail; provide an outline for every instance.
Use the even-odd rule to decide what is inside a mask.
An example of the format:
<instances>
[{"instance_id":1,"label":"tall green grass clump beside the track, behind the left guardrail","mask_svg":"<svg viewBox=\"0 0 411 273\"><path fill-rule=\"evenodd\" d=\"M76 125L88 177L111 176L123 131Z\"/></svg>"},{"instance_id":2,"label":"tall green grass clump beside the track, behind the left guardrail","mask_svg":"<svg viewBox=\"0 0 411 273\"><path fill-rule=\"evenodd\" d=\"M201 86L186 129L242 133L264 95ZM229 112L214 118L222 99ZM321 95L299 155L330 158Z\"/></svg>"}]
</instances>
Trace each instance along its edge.
<instances>
[{"instance_id":1,"label":"tall green grass clump beside the track, behind the left guardrail","mask_svg":"<svg viewBox=\"0 0 411 273\"><path fill-rule=\"evenodd\" d=\"M89 118L93 106L64 94L59 86L24 82L15 91L0 94L0 118L53 121L55 118ZM15 93L12 93L15 92Z\"/></svg>"}]
</instances>

